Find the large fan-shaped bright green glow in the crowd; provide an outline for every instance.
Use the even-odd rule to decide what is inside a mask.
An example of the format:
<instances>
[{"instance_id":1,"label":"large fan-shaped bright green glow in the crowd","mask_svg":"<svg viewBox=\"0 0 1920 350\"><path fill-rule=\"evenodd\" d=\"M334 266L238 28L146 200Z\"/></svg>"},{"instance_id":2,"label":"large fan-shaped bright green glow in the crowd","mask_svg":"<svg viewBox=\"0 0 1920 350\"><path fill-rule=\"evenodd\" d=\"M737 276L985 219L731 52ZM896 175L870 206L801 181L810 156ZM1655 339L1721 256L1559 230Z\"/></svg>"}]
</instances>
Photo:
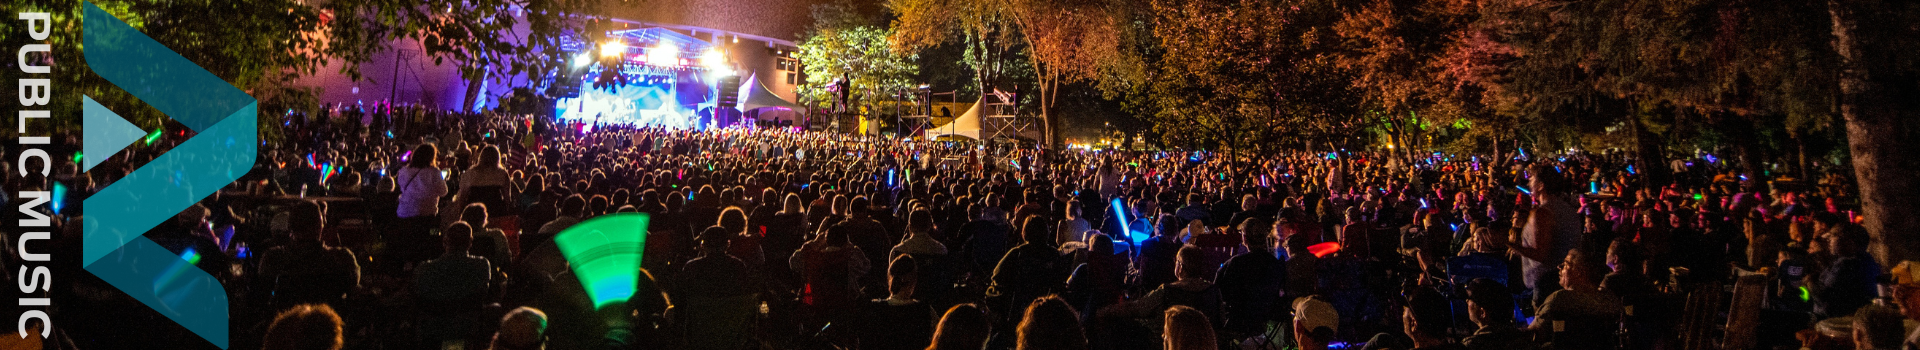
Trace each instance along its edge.
<instances>
[{"instance_id":1,"label":"large fan-shaped bright green glow in the crowd","mask_svg":"<svg viewBox=\"0 0 1920 350\"><path fill-rule=\"evenodd\" d=\"M639 283L639 258L647 252L647 213L601 215L561 231L553 237L561 256L586 287L593 308L607 308L634 298Z\"/></svg>"}]
</instances>

